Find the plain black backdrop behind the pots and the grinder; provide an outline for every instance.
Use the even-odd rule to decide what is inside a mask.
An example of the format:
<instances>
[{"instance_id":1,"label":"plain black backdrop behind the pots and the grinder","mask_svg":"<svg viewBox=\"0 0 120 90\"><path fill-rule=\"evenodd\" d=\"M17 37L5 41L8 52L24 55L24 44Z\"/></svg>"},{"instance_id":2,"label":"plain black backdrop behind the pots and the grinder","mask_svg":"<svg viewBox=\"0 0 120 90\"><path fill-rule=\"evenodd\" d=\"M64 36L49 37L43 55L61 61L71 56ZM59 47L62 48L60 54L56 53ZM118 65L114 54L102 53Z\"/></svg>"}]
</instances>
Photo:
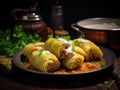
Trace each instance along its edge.
<instances>
[{"instance_id":1,"label":"plain black backdrop behind the pots and the grinder","mask_svg":"<svg viewBox=\"0 0 120 90\"><path fill-rule=\"evenodd\" d=\"M11 11L15 8L29 8L38 2L37 12L51 26L51 7L55 0L0 0L0 30L14 26ZM64 28L81 19L92 17L120 18L120 5L116 0L60 0L63 2Z\"/></svg>"}]
</instances>

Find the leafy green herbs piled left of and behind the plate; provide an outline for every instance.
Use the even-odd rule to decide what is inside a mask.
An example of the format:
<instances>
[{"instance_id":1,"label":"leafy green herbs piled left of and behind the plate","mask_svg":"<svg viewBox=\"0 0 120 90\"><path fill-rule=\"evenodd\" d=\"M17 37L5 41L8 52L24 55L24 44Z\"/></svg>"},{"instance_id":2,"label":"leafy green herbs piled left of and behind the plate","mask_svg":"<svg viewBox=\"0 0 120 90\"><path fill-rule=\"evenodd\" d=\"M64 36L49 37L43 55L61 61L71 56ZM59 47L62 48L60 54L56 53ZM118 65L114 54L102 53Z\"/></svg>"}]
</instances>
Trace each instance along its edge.
<instances>
[{"instance_id":1,"label":"leafy green herbs piled left of and behind the plate","mask_svg":"<svg viewBox=\"0 0 120 90\"><path fill-rule=\"evenodd\" d=\"M29 43L40 42L42 37L38 34L26 34L21 25L15 26L13 34L11 29L0 31L0 54L12 57L17 51Z\"/></svg>"}]
</instances>

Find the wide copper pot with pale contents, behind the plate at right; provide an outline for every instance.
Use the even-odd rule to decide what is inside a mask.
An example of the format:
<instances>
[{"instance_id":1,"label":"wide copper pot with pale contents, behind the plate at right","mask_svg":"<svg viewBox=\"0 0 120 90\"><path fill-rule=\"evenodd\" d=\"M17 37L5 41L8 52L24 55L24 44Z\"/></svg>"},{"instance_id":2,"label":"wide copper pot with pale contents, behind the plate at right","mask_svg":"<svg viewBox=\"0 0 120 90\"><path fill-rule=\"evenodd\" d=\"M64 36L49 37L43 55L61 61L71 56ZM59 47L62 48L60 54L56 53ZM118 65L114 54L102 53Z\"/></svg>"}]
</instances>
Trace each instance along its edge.
<instances>
[{"instance_id":1,"label":"wide copper pot with pale contents, behind the plate at right","mask_svg":"<svg viewBox=\"0 0 120 90\"><path fill-rule=\"evenodd\" d=\"M120 50L120 19L89 18L71 24L71 27L98 45Z\"/></svg>"}]
</instances>

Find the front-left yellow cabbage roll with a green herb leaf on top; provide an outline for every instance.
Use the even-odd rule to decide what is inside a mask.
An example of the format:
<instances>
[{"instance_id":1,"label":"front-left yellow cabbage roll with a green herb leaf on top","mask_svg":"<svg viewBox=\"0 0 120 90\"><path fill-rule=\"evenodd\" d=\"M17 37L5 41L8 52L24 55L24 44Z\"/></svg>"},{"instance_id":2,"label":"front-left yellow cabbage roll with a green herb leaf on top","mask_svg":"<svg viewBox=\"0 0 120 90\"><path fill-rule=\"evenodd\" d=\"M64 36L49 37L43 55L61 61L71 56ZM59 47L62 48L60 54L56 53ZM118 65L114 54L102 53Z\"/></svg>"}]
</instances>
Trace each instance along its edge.
<instances>
[{"instance_id":1,"label":"front-left yellow cabbage roll with a green herb leaf on top","mask_svg":"<svg viewBox=\"0 0 120 90\"><path fill-rule=\"evenodd\" d=\"M59 69L61 63L50 51L41 49L32 52L30 64L39 71L51 72Z\"/></svg>"}]
</instances>

